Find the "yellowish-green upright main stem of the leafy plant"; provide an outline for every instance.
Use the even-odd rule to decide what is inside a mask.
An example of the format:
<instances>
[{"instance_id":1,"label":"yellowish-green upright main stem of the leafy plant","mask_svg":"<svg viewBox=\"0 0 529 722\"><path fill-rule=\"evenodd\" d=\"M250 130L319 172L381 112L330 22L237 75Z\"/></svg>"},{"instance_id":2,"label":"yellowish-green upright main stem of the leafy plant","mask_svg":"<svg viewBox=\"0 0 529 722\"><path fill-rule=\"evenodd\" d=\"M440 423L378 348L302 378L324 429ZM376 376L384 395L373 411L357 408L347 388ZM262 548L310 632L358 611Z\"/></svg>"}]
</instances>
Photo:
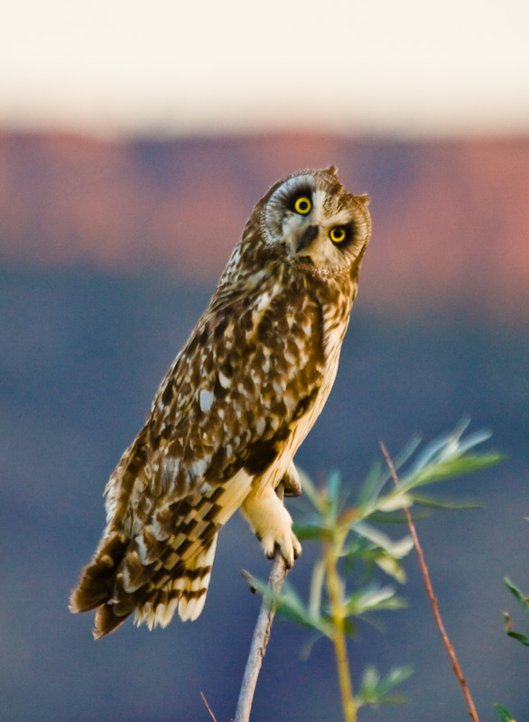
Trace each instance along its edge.
<instances>
[{"instance_id":1,"label":"yellowish-green upright main stem of the leafy plant","mask_svg":"<svg viewBox=\"0 0 529 722\"><path fill-rule=\"evenodd\" d=\"M332 643L334 644L334 652L336 654L339 690L341 693L345 722L356 722L357 705L353 697L346 635L344 632L343 588L339 579L337 564L338 555L335 553L333 546L327 543L325 546L325 568L330 613L334 623Z\"/></svg>"}]
</instances>

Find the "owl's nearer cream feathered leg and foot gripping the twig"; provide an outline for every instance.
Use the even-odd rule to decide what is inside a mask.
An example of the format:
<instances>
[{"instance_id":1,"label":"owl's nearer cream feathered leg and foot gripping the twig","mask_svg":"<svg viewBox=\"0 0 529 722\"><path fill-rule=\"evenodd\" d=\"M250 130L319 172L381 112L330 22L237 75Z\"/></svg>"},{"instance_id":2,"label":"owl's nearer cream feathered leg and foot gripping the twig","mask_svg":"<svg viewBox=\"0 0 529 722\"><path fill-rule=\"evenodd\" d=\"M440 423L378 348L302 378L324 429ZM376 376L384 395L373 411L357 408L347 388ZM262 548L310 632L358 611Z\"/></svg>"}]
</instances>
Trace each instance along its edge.
<instances>
[{"instance_id":1,"label":"owl's nearer cream feathered leg and foot gripping the twig","mask_svg":"<svg viewBox=\"0 0 529 722\"><path fill-rule=\"evenodd\" d=\"M250 492L241 506L241 512L250 523L255 536L261 542L269 559L275 550L281 552L284 563L290 569L302 553L302 545L292 532L292 517L278 499L272 488Z\"/></svg>"}]
</instances>

